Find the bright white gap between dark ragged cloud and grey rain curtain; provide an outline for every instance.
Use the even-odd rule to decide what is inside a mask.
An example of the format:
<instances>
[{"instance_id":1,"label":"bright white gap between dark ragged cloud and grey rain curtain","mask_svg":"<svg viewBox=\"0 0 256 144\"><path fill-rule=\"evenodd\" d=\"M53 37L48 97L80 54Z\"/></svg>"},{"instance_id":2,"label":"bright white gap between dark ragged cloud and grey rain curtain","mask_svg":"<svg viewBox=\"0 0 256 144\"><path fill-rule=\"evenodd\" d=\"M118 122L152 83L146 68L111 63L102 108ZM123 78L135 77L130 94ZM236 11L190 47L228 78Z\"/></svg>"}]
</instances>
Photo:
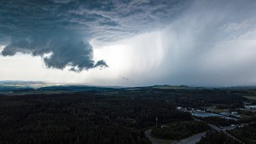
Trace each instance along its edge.
<instances>
[{"instance_id":1,"label":"bright white gap between dark ragged cloud and grey rain curtain","mask_svg":"<svg viewBox=\"0 0 256 144\"><path fill-rule=\"evenodd\" d=\"M154 71L159 69L165 55L162 32L148 32L107 46L94 42L92 45L96 48L95 58L100 57L108 63L109 67L102 74L108 80L114 80L115 84L142 85L144 79L160 74Z\"/></svg>"}]
</instances>

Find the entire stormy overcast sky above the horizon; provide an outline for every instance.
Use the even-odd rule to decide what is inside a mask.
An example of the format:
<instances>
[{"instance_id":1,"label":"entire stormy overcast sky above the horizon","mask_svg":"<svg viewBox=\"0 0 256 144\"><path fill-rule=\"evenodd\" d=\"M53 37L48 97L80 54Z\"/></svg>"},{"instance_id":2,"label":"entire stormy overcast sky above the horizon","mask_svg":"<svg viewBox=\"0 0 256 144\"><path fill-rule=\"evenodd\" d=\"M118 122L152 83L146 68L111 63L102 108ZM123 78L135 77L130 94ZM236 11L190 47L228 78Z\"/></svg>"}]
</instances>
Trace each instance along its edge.
<instances>
[{"instance_id":1,"label":"entire stormy overcast sky above the horizon","mask_svg":"<svg viewBox=\"0 0 256 144\"><path fill-rule=\"evenodd\" d=\"M254 0L2 0L0 80L256 84Z\"/></svg>"}]
</instances>

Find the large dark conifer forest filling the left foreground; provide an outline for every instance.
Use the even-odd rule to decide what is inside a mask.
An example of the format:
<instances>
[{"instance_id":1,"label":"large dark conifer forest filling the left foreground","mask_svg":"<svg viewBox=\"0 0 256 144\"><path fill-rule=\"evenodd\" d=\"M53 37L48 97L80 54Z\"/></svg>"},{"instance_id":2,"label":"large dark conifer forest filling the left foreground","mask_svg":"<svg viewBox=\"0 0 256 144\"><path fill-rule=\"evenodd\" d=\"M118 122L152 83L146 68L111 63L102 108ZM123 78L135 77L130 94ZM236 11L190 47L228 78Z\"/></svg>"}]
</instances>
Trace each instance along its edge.
<instances>
[{"instance_id":1,"label":"large dark conifer forest filling the left foreground","mask_svg":"<svg viewBox=\"0 0 256 144\"><path fill-rule=\"evenodd\" d=\"M156 116L159 123L191 119L189 112L142 94L2 96L0 143L147 144L141 129L154 125Z\"/></svg>"}]
</instances>

